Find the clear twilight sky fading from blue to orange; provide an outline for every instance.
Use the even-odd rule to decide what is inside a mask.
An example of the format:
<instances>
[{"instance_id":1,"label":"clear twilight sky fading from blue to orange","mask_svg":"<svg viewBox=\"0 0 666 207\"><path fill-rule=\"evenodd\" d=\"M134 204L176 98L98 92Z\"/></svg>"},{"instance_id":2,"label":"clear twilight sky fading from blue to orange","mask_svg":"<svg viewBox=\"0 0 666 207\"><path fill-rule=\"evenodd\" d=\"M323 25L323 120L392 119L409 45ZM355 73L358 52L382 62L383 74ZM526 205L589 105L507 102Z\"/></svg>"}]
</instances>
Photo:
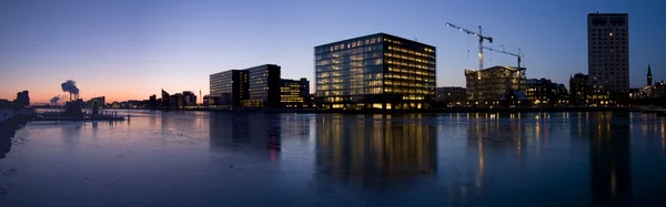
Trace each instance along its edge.
<instances>
[{"instance_id":1,"label":"clear twilight sky fading from blue to orange","mask_svg":"<svg viewBox=\"0 0 666 207\"><path fill-rule=\"evenodd\" d=\"M478 42L446 27L483 27L494 43L521 49L527 77L568 85L587 73L587 14L629 14L630 86L666 79L666 18L659 0L2 0L0 99L30 91L31 102L64 94L107 102L194 91L209 75L261 64L283 79L307 77L314 92L314 46L385 32L436 46L437 86L464 86L478 69ZM515 65L514 56L484 52L484 65Z\"/></svg>"}]
</instances>

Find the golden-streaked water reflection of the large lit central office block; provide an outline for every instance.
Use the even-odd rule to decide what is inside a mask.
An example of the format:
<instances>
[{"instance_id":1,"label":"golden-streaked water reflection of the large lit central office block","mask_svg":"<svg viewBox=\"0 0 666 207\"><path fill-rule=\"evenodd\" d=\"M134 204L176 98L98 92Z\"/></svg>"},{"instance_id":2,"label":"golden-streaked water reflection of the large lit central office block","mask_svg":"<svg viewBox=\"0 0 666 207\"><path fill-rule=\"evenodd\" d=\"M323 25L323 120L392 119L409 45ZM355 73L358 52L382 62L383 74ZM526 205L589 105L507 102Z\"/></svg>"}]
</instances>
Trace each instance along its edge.
<instances>
[{"instance_id":1,"label":"golden-streaked water reflection of the large lit central office block","mask_svg":"<svg viewBox=\"0 0 666 207\"><path fill-rule=\"evenodd\" d=\"M316 120L317 172L362 184L435 174L435 124L434 117L416 114L321 115Z\"/></svg>"}]
</instances>

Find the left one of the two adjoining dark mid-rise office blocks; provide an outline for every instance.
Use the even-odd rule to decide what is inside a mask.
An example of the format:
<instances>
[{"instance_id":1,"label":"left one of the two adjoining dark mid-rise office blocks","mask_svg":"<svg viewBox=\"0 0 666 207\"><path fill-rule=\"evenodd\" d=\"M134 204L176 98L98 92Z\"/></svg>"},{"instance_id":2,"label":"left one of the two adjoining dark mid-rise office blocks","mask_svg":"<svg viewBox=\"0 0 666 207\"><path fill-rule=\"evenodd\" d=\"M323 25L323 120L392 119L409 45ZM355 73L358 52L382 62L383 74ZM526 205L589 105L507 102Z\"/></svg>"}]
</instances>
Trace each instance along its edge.
<instances>
[{"instance_id":1,"label":"left one of the two adjoining dark mid-rise office blocks","mask_svg":"<svg viewBox=\"0 0 666 207\"><path fill-rule=\"evenodd\" d=\"M241 101L249 97L248 70L229 70L210 75L209 102L220 107L240 107ZM209 100L210 101L210 100Z\"/></svg>"}]
</instances>

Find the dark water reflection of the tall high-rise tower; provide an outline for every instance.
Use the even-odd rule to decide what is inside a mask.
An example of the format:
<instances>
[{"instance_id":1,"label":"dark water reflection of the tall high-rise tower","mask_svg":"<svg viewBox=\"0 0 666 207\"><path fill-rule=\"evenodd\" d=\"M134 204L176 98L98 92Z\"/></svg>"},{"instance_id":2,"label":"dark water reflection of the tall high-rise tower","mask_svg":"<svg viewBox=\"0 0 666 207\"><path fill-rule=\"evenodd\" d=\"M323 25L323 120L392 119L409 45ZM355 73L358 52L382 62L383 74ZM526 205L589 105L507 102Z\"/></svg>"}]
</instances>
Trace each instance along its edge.
<instances>
[{"instance_id":1,"label":"dark water reflection of the tall high-rise tower","mask_svg":"<svg viewBox=\"0 0 666 207\"><path fill-rule=\"evenodd\" d=\"M627 112L595 114L589 124L593 203L626 206L632 200L630 123Z\"/></svg>"}]
</instances>

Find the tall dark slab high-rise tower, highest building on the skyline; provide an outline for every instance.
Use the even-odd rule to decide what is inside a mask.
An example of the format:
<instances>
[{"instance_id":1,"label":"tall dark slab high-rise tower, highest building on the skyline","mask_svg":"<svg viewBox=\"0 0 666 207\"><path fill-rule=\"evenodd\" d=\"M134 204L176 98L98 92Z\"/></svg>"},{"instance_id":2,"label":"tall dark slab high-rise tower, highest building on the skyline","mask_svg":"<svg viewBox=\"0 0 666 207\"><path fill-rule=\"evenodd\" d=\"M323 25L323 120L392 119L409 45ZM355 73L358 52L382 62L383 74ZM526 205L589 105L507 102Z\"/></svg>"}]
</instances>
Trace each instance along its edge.
<instances>
[{"instance_id":1,"label":"tall dark slab high-rise tower, highest building on the skyline","mask_svg":"<svg viewBox=\"0 0 666 207\"><path fill-rule=\"evenodd\" d=\"M591 93L629 92L629 18L626 13L587 15Z\"/></svg>"}]
</instances>

